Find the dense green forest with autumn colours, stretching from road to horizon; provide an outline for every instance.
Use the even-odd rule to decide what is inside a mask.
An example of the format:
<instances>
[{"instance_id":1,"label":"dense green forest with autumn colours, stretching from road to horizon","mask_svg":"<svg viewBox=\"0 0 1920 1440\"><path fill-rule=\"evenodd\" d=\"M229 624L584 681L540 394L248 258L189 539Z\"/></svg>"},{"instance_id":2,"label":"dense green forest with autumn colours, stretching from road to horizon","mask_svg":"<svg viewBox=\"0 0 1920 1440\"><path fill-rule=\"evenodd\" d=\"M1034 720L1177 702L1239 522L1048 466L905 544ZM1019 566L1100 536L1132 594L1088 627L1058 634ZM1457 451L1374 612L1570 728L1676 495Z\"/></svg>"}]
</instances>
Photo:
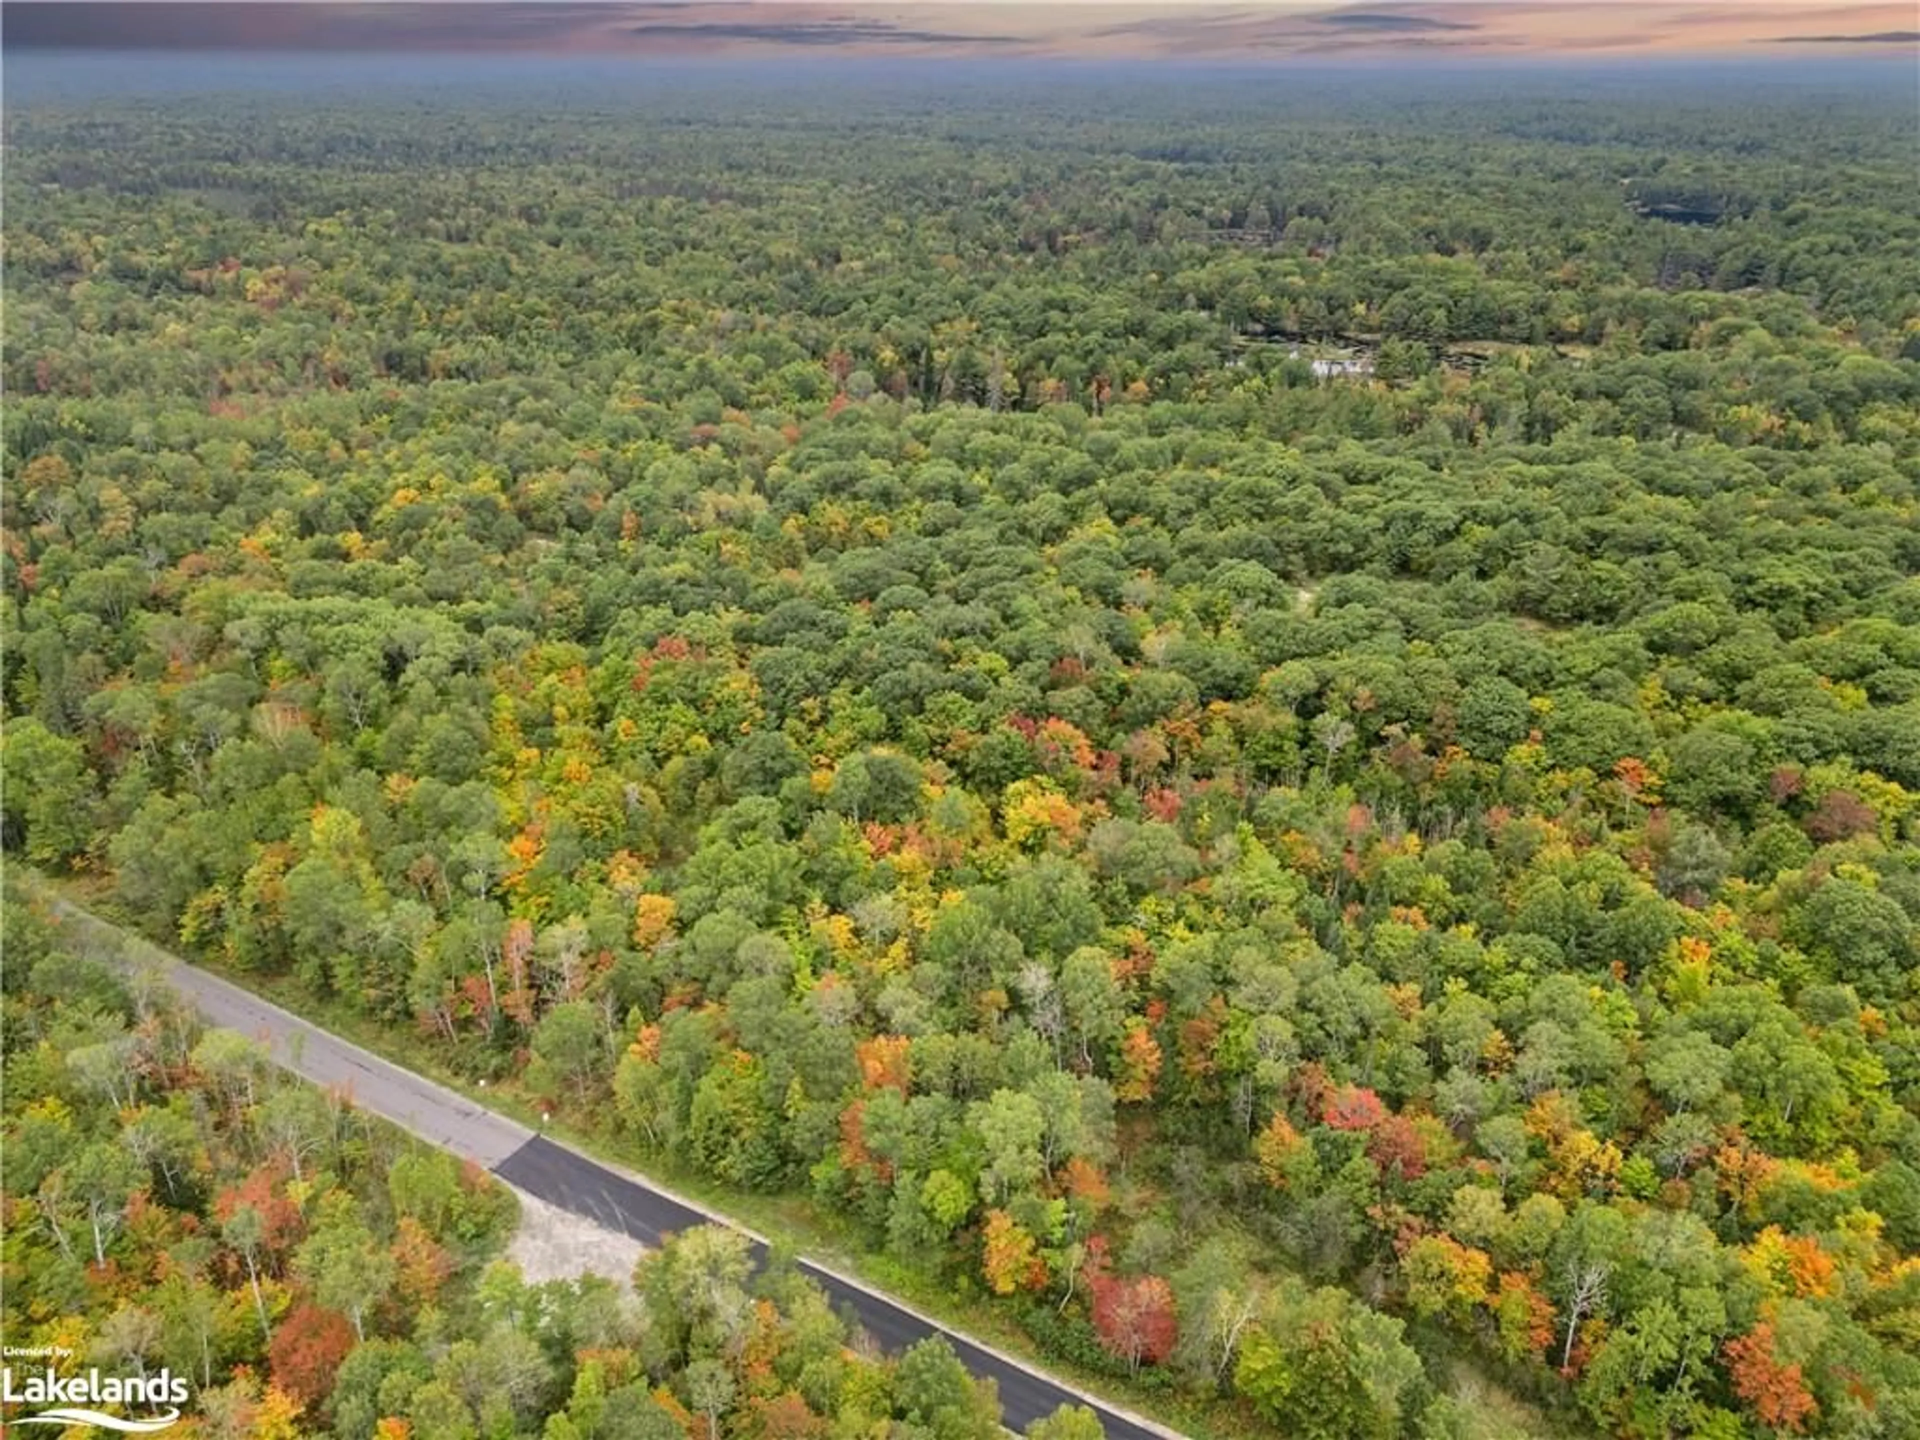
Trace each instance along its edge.
<instances>
[{"instance_id":1,"label":"dense green forest with autumn colours, stretching from road to horizon","mask_svg":"<svg viewBox=\"0 0 1920 1440\"><path fill-rule=\"evenodd\" d=\"M1920 1432L1910 75L649 77L12 109L10 860L1225 1430Z\"/></svg>"}]
</instances>

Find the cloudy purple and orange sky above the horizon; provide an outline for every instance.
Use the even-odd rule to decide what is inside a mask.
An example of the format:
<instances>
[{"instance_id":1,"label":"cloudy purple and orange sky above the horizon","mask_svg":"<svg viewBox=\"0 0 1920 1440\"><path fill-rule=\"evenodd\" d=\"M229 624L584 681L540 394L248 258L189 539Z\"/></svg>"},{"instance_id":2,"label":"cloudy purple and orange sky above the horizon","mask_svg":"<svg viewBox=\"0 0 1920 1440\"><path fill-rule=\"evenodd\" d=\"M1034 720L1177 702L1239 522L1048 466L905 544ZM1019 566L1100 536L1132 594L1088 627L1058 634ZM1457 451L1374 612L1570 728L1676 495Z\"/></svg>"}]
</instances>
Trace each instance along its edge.
<instances>
[{"instance_id":1,"label":"cloudy purple and orange sky above the horizon","mask_svg":"<svg viewBox=\"0 0 1920 1440\"><path fill-rule=\"evenodd\" d=\"M10 0L6 50L1275 60L1914 54L1914 0Z\"/></svg>"}]
</instances>

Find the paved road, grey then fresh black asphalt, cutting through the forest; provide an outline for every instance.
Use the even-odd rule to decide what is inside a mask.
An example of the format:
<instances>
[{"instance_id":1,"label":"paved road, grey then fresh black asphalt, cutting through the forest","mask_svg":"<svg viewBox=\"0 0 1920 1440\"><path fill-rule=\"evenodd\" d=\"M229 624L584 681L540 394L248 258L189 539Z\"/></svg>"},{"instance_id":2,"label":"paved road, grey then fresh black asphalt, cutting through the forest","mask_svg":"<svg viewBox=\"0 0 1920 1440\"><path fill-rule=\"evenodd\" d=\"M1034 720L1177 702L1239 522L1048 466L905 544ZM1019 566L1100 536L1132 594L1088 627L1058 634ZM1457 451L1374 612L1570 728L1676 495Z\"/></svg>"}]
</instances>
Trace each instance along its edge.
<instances>
[{"instance_id":1,"label":"paved road, grey then fresh black asphalt, cutting through the forest","mask_svg":"<svg viewBox=\"0 0 1920 1440\"><path fill-rule=\"evenodd\" d=\"M83 927L109 931L134 962L157 966L167 981L190 998L207 1020L263 1041L273 1058L286 1069L315 1085L344 1089L359 1108L413 1131L422 1140L486 1165L518 1190L649 1246L693 1225L733 1225L724 1215L682 1200L651 1181L536 1135L526 1125L444 1085L349 1044L252 991L209 975L205 970L196 970L157 947L131 939L127 931L88 914L71 900L56 900L56 908ZM733 1229L749 1235L755 1242L755 1256L764 1258L764 1236L743 1225L733 1225ZM1183 1440L1175 1430L1108 1405L1012 1356L948 1331L847 1275L808 1260L801 1261L801 1269L828 1292L835 1308L852 1311L854 1319L889 1352L904 1350L929 1334L945 1334L973 1375L991 1379L998 1386L1002 1421L1014 1430L1025 1430L1033 1421L1052 1415L1060 1405L1081 1404L1092 1407L1112 1440Z\"/></svg>"}]
</instances>

